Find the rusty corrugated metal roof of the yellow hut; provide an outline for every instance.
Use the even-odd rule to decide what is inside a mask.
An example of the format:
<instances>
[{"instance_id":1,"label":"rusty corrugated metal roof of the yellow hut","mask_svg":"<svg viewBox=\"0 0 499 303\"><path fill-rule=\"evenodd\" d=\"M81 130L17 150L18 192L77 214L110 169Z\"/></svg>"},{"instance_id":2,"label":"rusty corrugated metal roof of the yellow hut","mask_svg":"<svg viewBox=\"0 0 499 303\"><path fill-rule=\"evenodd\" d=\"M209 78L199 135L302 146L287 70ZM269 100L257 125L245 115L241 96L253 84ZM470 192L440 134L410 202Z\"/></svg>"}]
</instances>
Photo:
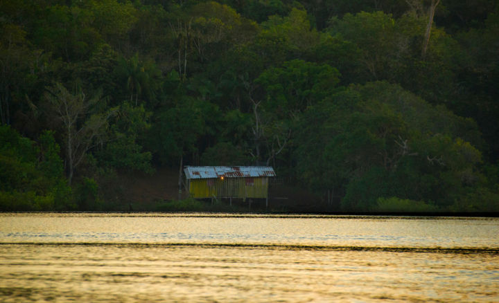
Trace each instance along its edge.
<instances>
[{"instance_id":1,"label":"rusty corrugated metal roof of the yellow hut","mask_svg":"<svg viewBox=\"0 0 499 303\"><path fill-rule=\"evenodd\" d=\"M270 166L186 166L188 179L276 176Z\"/></svg>"}]
</instances>

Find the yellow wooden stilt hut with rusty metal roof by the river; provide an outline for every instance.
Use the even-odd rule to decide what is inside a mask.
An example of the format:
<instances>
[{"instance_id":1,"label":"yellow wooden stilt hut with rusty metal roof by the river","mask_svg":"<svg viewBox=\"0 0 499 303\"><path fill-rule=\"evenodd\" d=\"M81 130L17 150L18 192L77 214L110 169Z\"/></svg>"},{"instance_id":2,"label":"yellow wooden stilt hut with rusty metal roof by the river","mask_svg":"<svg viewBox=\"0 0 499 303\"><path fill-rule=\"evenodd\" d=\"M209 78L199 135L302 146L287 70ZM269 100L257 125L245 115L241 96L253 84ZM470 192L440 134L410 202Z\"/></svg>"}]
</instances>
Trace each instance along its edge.
<instances>
[{"instance_id":1,"label":"yellow wooden stilt hut with rusty metal roof by the river","mask_svg":"<svg viewBox=\"0 0 499 303\"><path fill-rule=\"evenodd\" d=\"M265 199L268 205L269 178L272 167L186 166L186 187L195 199L247 198Z\"/></svg>"}]
</instances>

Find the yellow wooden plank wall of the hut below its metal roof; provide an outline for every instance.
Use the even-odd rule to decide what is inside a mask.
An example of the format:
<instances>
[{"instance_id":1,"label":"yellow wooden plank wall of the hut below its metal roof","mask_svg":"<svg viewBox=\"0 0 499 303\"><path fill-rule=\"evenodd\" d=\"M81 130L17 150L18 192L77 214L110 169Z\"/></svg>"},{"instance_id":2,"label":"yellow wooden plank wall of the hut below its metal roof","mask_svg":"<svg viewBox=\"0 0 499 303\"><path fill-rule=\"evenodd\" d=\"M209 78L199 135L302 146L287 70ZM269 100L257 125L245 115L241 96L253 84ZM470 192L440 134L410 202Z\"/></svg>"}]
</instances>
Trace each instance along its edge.
<instances>
[{"instance_id":1,"label":"yellow wooden plank wall of the hut below its metal roof","mask_svg":"<svg viewBox=\"0 0 499 303\"><path fill-rule=\"evenodd\" d=\"M267 198L268 177L252 178L247 185L246 178L211 178L189 180L189 193L193 198Z\"/></svg>"}]
</instances>

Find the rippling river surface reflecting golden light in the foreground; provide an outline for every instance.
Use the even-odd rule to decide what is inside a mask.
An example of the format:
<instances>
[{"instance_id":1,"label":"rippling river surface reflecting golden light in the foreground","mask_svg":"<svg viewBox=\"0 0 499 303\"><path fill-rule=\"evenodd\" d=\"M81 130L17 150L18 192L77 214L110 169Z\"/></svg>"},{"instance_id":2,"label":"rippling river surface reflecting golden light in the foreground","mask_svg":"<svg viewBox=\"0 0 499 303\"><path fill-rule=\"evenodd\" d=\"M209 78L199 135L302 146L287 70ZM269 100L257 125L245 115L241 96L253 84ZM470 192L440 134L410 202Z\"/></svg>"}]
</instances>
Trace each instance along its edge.
<instances>
[{"instance_id":1,"label":"rippling river surface reflecting golden light in the foreground","mask_svg":"<svg viewBox=\"0 0 499 303\"><path fill-rule=\"evenodd\" d=\"M499 219L0 214L0 302L499 302Z\"/></svg>"}]
</instances>

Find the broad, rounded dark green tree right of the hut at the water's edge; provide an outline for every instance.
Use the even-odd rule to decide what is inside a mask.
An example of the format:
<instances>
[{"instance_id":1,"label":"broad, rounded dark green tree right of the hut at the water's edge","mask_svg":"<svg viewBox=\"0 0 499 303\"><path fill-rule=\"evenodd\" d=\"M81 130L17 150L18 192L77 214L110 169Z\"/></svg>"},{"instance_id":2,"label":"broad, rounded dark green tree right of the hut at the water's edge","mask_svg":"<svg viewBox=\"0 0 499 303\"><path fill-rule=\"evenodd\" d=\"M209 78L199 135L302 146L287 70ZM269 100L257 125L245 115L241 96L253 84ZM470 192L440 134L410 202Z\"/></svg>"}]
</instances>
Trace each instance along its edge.
<instances>
[{"instance_id":1,"label":"broad, rounded dark green tree right of the hut at the water's edge","mask_svg":"<svg viewBox=\"0 0 499 303\"><path fill-rule=\"evenodd\" d=\"M481 186L476 124L385 82L351 86L305 111L298 176L368 210L397 196L449 206ZM317 164L318 163L318 164Z\"/></svg>"}]
</instances>

